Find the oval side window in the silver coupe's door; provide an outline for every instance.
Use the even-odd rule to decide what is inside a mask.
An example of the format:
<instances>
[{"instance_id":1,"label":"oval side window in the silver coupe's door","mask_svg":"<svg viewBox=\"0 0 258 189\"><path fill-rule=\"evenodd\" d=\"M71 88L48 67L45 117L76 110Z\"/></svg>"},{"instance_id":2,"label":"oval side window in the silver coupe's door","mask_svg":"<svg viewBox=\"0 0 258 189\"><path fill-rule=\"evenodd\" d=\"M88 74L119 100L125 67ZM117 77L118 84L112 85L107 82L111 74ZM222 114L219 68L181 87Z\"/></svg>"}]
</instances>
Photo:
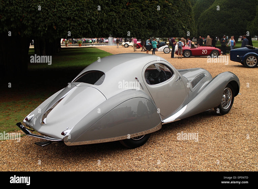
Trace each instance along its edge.
<instances>
[{"instance_id":1,"label":"oval side window in the silver coupe's door","mask_svg":"<svg viewBox=\"0 0 258 189\"><path fill-rule=\"evenodd\" d=\"M173 72L164 64L152 64L144 72L144 78L149 85L162 83L173 76Z\"/></svg>"}]
</instances>

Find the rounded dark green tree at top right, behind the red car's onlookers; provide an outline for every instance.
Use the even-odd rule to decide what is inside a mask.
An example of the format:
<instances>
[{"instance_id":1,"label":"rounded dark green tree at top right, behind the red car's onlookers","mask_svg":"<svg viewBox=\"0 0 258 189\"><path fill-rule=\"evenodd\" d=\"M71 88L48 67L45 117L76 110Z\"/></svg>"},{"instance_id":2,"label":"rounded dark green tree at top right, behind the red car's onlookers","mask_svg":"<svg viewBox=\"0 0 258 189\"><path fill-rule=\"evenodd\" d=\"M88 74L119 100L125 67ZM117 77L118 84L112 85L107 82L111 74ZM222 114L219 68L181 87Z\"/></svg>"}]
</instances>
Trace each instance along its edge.
<instances>
[{"instance_id":1,"label":"rounded dark green tree at top right, behind the red car's onlookers","mask_svg":"<svg viewBox=\"0 0 258 189\"><path fill-rule=\"evenodd\" d=\"M257 3L258 0L215 0L201 13L197 24L198 34L220 38L223 35L238 37L247 34L247 24L255 17ZM242 7L239 8L239 5Z\"/></svg>"}]
</instances>

